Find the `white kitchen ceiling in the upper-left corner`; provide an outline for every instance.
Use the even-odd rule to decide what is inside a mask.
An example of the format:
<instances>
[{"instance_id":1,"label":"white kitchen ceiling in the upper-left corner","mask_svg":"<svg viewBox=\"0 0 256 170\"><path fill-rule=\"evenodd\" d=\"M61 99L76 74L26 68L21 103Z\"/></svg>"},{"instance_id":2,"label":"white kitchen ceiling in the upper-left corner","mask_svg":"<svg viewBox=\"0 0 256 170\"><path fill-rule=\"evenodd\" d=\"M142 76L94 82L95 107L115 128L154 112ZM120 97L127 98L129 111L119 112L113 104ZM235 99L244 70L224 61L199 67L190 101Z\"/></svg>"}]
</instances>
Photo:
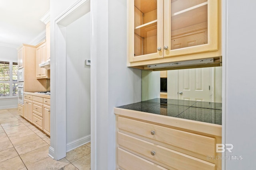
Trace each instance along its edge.
<instances>
[{"instance_id":1,"label":"white kitchen ceiling in the upper-left corner","mask_svg":"<svg viewBox=\"0 0 256 170\"><path fill-rule=\"evenodd\" d=\"M29 44L45 30L48 10L50 0L0 0L0 46Z\"/></svg>"}]
</instances>

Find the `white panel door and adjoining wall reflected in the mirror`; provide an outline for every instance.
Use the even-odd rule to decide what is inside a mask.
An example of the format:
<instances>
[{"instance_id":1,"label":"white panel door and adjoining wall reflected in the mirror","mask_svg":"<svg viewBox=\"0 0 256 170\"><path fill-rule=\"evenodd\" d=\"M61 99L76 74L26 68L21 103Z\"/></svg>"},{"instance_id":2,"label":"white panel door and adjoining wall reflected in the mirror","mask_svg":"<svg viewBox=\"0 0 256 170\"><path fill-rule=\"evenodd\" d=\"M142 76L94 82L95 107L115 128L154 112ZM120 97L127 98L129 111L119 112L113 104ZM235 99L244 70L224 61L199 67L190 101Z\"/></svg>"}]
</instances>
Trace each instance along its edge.
<instances>
[{"instance_id":1,"label":"white panel door and adjoining wall reflected in the mirror","mask_svg":"<svg viewBox=\"0 0 256 170\"><path fill-rule=\"evenodd\" d=\"M221 102L221 67L216 68L168 70L168 99Z\"/></svg>"}]
</instances>

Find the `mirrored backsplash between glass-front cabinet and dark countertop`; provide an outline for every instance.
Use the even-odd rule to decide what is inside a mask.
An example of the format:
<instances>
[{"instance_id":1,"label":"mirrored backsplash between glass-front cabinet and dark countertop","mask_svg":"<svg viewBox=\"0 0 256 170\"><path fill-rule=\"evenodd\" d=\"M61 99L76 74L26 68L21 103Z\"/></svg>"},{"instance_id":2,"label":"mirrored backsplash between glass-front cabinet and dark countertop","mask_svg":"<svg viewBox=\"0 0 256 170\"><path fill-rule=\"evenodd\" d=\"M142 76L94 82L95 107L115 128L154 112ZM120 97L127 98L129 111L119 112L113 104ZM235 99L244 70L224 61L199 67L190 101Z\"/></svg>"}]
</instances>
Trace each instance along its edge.
<instances>
[{"instance_id":1,"label":"mirrored backsplash between glass-front cabinet and dark countertop","mask_svg":"<svg viewBox=\"0 0 256 170\"><path fill-rule=\"evenodd\" d=\"M142 70L142 101L155 98L222 103L222 67Z\"/></svg>"}]
</instances>

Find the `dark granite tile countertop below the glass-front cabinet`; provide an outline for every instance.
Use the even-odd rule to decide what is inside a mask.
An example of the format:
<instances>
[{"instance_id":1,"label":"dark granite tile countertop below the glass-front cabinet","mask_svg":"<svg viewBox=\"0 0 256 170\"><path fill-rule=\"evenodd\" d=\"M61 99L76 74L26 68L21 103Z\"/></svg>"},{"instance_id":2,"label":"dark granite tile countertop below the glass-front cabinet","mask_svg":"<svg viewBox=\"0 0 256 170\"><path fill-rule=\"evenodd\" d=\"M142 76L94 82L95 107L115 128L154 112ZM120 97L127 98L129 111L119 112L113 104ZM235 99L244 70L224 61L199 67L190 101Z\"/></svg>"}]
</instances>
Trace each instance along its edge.
<instances>
[{"instance_id":1,"label":"dark granite tile countertop below the glass-front cabinet","mask_svg":"<svg viewBox=\"0 0 256 170\"><path fill-rule=\"evenodd\" d=\"M222 125L222 103L155 98L119 108Z\"/></svg>"}]
</instances>

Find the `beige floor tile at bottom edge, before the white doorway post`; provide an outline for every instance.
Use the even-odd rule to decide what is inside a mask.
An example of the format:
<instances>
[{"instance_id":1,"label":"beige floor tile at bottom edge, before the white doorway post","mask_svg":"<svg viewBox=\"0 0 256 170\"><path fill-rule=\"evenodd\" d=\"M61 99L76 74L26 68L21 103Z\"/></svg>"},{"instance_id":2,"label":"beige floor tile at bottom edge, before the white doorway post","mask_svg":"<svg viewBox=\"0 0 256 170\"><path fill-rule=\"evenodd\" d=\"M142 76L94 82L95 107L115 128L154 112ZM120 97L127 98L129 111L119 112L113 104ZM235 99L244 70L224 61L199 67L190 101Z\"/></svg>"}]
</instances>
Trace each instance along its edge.
<instances>
[{"instance_id":1,"label":"beige floor tile at bottom edge, before the white doorway post","mask_svg":"<svg viewBox=\"0 0 256 170\"><path fill-rule=\"evenodd\" d=\"M27 166L28 170L58 170L70 164L65 158L61 160L54 160L50 157L40 160L34 164Z\"/></svg>"}]
</instances>

